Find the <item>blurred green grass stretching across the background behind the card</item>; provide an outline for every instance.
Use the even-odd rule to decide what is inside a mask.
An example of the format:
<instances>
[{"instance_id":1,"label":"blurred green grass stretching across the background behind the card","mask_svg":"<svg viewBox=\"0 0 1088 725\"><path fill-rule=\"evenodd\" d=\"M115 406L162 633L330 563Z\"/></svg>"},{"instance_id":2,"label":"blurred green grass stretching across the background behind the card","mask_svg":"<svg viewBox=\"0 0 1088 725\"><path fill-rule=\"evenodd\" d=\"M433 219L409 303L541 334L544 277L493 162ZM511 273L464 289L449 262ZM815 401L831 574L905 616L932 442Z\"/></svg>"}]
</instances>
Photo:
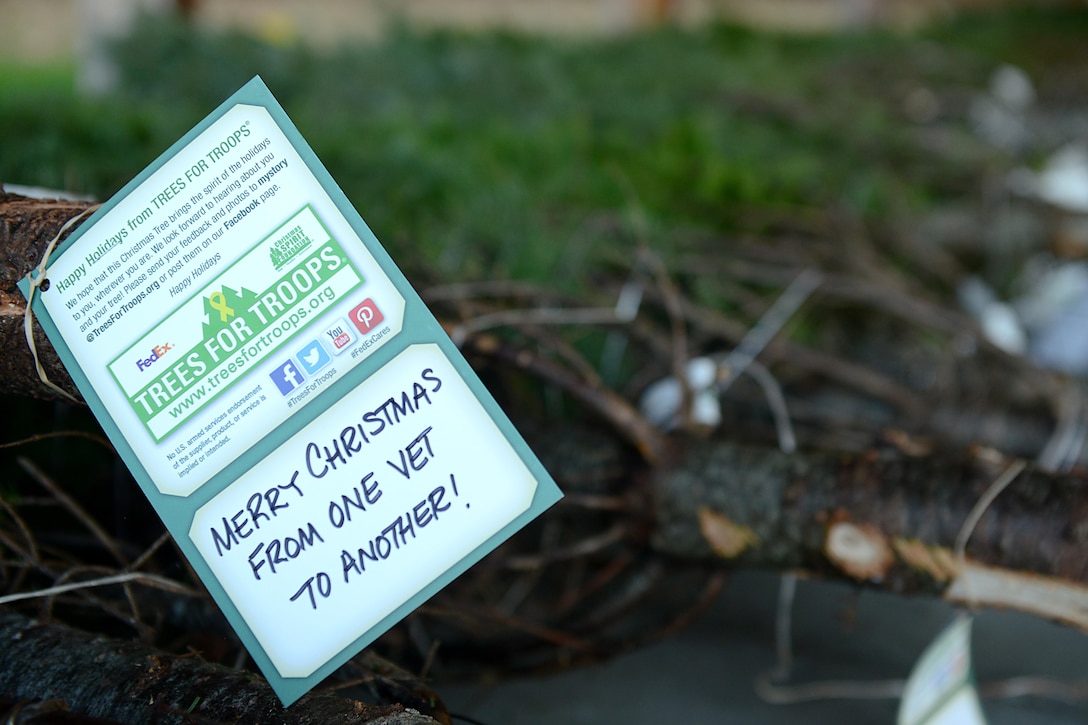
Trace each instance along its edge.
<instances>
[{"instance_id":1,"label":"blurred green grass stretching across the background behind the card","mask_svg":"<svg viewBox=\"0 0 1088 725\"><path fill-rule=\"evenodd\" d=\"M259 73L410 272L585 291L636 241L666 259L721 256L724 239L799 220L879 225L977 194L980 174L1012 160L955 118L934 152L904 119L905 94L963 96L1006 60L1038 72L1033 48L1083 61L1083 15L830 37L403 29L321 53L146 24L119 47L116 97L74 97L71 70L0 67L0 177L108 197Z\"/></svg>"}]
</instances>

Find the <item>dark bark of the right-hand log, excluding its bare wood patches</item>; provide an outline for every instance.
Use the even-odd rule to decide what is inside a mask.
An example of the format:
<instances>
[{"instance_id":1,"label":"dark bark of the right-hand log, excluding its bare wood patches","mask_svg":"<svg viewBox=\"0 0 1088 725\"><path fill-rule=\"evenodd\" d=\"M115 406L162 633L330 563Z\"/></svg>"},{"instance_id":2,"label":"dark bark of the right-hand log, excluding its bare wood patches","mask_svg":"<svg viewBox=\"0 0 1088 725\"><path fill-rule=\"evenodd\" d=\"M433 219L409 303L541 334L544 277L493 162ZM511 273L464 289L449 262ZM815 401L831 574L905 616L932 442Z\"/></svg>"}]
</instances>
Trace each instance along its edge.
<instances>
[{"instance_id":1,"label":"dark bark of the right-hand log, excluding its bare wood patches","mask_svg":"<svg viewBox=\"0 0 1088 725\"><path fill-rule=\"evenodd\" d=\"M720 556L700 512L751 528L758 544L733 558L753 566L821 567L827 530L840 523L891 539L952 549L972 507L1005 464L949 456L783 454L726 441L689 441L654 477L655 545L688 558ZM705 518L705 514L704 514ZM979 562L1088 583L1088 481L1026 469L969 539ZM889 570L887 586L906 586Z\"/></svg>"}]
</instances>

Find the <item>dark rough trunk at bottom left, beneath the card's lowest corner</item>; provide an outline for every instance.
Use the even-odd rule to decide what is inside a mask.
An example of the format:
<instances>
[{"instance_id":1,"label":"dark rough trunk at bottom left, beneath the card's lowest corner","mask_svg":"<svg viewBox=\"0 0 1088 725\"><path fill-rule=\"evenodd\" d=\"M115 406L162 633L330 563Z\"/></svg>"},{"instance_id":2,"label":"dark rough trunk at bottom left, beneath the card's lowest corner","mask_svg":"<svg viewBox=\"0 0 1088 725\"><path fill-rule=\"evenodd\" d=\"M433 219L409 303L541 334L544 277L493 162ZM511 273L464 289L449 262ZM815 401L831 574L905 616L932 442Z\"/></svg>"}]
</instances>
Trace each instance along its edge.
<instances>
[{"instance_id":1,"label":"dark rough trunk at bottom left, beneath the card's lowest corner","mask_svg":"<svg viewBox=\"0 0 1088 725\"><path fill-rule=\"evenodd\" d=\"M73 712L121 723L367 723L437 725L401 705L308 695L284 708L260 677L0 613L0 693L60 700Z\"/></svg>"}]
</instances>

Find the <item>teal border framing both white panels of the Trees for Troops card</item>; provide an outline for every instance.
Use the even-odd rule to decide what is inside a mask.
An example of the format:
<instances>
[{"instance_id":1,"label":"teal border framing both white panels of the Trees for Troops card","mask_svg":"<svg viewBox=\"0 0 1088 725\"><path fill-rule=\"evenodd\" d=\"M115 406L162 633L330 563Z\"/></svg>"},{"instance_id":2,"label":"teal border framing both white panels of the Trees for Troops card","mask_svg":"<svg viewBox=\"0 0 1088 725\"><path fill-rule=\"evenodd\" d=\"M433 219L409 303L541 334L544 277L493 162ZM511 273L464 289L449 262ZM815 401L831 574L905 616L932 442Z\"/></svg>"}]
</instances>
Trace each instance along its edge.
<instances>
[{"instance_id":1,"label":"teal border framing both white panels of the Trees for Troops card","mask_svg":"<svg viewBox=\"0 0 1088 725\"><path fill-rule=\"evenodd\" d=\"M438 324L437 320L408 283L404 273L394 263L388 253L386 253L384 247L379 243L378 238L359 216L351 202L348 201L343 191L324 168L324 164L322 164L318 159L309 144L307 144L307 142L302 138L302 135L295 127L295 124L290 121L286 112L259 76L254 77L249 81L249 83L238 89L233 96L231 96L231 98L220 105L219 108L217 108L181 139L166 149L166 151L159 156L154 162L128 182L109 201L102 205L102 207L99 208L87 221L85 221L67 239L59 245L58 249L53 251L53 258L55 259L59 256L64 255L65 251L72 248L75 242L85 232L91 229L98 220L125 199L125 197L133 193L151 174L166 164L200 133L206 131L210 125L215 123L226 112L238 105L258 106L268 111L273 121L280 126L281 131L294 146L296 152L306 162L309 171L317 179L324 193L332 199L333 204L337 207L339 212L347 220L348 224L362 241L369 253L376 260L382 271L388 277L397 292L404 297L406 303L405 317L404 325L399 333L397 333L391 341L383 344L366 360L347 371L333 384L320 391L312 402L294 413L284 421L283 425L274 429L263 440L255 444L249 451L213 476L199 489L194 491L188 496L175 496L161 493L154 486L135 452L128 445L124 433L109 415L101 397L99 397L98 393L94 390L89 380L79 368L71 347L60 335L57 325L53 323L53 320L50 318L45 305L41 304L40 298L37 295L34 299L32 309L38 320L38 323L52 342L53 347L57 349L61 360L67 368L84 400L90 406L106 434L118 450L122 459L128 466L128 469L132 471L136 482L144 490L145 495L154 506L156 512L162 518L166 528L174 537L177 545L188 557L194 569L200 576L205 586L215 599L227 620L238 634L254 661L260 667L269 684L286 706L312 689L322 679L327 677L364 647L373 642L374 639L381 636L390 627L418 609L434 593L453 581L457 576L465 573L469 567L483 558L483 556L512 536L516 531L521 529L526 524L542 514L546 508L556 503L562 494L552 480L552 477L544 469L540 460L532 453L528 444L503 413L502 408L499 408L498 404L484 388L483 383L477 377L468 361L460 354L460 351L453 343L453 341L450 341L442 325ZM32 274L34 273L32 272ZM24 278L20 282L18 286L23 292L23 295L27 296L30 287L30 275ZM364 381L374 371L381 369L399 353L415 344L437 344L440 349L453 365L454 369L465 380L466 384L480 401L484 410L491 416L496 427L509 442L510 446L515 450L517 455L524 463L526 467L536 479L537 484L532 503L521 515L507 524L486 542L461 558L456 565L449 568L444 575L432 581L418 594L398 606L378 625L372 627L359 638L350 642L345 642L343 650L318 668L312 675L300 678L282 677L265 654L257 638L254 636L252 631L246 625L240 613L234 606L223 588L219 585L219 581L212 575L210 568L189 539L188 531L193 523L194 515L201 505L230 486L244 471L252 467L257 460L260 460L271 454L290 435L307 423L311 422L313 419L318 418L333 403ZM146 431L139 431L139 434L146 434Z\"/></svg>"}]
</instances>

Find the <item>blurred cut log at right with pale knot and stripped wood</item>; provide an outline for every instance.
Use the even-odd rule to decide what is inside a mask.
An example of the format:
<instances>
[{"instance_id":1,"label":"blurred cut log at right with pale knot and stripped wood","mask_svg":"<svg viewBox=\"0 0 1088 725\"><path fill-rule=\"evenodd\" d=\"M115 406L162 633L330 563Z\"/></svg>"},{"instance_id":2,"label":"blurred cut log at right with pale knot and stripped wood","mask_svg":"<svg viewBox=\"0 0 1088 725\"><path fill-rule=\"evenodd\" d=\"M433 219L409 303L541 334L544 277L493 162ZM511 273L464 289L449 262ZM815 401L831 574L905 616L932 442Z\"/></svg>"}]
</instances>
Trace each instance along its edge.
<instances>
[{"instance_id":1,"label":"blurred cut log at right with pale knot and stripped wood","mask_svg":"<svg viewBox=\"0 0 1088 725\"><path fill-rule=\"evenodd\" d=\"M901 594L1018 609L1088 631L1088 478L1028 467L956 539L1000 456L800 453L687 440L652 478L653 546Z\"/></svg>"}]
</instances>

